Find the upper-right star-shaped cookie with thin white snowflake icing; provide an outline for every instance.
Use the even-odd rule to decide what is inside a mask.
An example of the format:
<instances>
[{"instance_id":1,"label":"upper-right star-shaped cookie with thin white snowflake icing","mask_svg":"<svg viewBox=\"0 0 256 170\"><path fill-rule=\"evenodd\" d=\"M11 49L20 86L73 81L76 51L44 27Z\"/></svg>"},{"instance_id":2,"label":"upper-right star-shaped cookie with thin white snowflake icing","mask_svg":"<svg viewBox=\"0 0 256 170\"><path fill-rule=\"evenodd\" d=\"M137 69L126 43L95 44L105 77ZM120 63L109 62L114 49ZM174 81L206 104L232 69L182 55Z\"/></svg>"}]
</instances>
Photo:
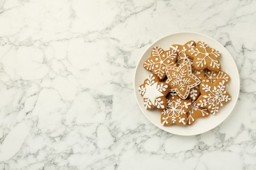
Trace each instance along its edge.
<instances>
[{"instance_id":1,"label":"upper-right star-shaped cookie with thin white snowflake icing","mask_svg":"<svg viewBox=\"0 0 256 170\"><path fill-rule=\"evenodd\" d=\"M193 67L196 70L209 69L210 71L219 71L221 63L219 51L210 48L205 42L198 42L195 48L190 48L186 54L193 58Z\"/></svg>"}]
</instances>

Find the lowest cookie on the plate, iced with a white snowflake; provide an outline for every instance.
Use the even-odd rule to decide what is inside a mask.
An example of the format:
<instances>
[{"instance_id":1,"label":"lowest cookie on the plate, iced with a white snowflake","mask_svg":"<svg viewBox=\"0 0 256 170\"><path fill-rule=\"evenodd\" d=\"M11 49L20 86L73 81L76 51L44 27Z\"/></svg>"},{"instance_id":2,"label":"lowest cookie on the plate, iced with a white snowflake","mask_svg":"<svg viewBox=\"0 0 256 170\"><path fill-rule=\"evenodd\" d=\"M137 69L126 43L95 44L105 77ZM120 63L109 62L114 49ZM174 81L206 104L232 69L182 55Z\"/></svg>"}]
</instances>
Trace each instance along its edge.
<instances>
[{"instance_id":1,"label":"lowest cookie on the plate, iced with a white snowflake","mask_svg":"<svg viewBox=\"0 0 256 170\"><path fill-rule=\"evenodd\" d=\"M186 112L190 110L191 104L191 101L188 99L184 100L177 96L170 96L167 99L166 109L160 110L161 124L163 126L170 126L172 124L186 125Z\"/></svg>"}]
</instances>

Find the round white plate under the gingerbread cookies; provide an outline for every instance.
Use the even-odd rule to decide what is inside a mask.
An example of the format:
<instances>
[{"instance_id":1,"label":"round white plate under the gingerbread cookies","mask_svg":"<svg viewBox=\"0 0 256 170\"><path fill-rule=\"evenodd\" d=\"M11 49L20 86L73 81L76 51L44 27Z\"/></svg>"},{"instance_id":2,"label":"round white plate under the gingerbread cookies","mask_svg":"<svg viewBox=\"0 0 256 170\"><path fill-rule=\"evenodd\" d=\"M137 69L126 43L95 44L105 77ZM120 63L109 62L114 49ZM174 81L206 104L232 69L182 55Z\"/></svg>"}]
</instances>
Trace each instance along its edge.
<instances>
[{"instance_id":1,"label":"round white plate under the gingerbread cookies","mask_svg":"<svg viewBox=\"0 0 256 170\"><path fill-rule=\"evenodd\" d=\"M216 115L209 115L207 118L198 118L192 126L162 126L160 122L161 113L157 109L144 109L143 99L139 94L138 88L140 84L143 84L144 79L150 75L150 72L143 68L143 63L148 57L150 57L150 52L154 46L160 46L163 48L163 50L168 50L171 44L184 44L185 42L191 40L196 42L203 41L211 48L215 48L221 52L221 58L219 61L221 62L222 70L230 75L231 80L228 83L226 89L230 93L232 99L229 103L221 107L219 113ZM200 133L209 131L221 124L221 122L223 122L232 112L234 106L236 105L236 101L238 100L240 91L240 78L234 59L222 44L201 33L181 32L162 37L161 39L158 39L158 41L154 42L151 46L149 46L148 49L146 49L146 51L142 54L135 70L134 89L140 110L142 110L146 118L148 118L148 120L150 120L155 126L158 126L160 129L176 135L198 135Z\"/></svg>"}]
</instances>

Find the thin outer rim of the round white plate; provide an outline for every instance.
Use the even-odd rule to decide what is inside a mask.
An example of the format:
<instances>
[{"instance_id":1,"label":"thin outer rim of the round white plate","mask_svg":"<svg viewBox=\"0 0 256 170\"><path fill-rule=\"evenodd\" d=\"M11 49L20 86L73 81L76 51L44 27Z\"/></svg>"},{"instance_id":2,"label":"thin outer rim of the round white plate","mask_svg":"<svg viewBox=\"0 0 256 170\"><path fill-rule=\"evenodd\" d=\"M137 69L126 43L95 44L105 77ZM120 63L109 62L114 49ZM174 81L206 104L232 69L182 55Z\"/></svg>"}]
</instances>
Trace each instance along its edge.
<instances>
[{"instance_id":1,"label":"thin outer rim of the round white plate","mask_svg":"<svg viewBox=\"0 0 256 170\"><path fill-rule=\"evenodd\" d=\"M150 46L148 46L148 48L146 48L146 49L144 50L144 52L140 55L140 58L139 58L139 60L137 61L137 65L136 65L135 72L134 72L134 75L133 75L133 91L134 91L134 93L135 93L135 98L136 98L136 101L137 101L137 105L139 105L139 100L138 100L138 97L137 97L137 87L135 86L135 78L136 78L137 69L138 69L138 67L139 67L139 63L140 63L140 61L141 61L141 59L142 59L142 56L144 56L144 54L146 53L146 51L147 51L149 48L151 48L153 44L156 44L156 42L161 41L161 39L165 39L166 37L169 37L169 36L171 36L171 35L182 34L182 33L192 33L192 34L196 34L196 35L201 35L201 36L207 37L208 39L211 39L212 41L216 42L217 44L223 46L223 44L221 44L221 42L219 42L219 41L213 39L212 37L209 37L208 35L205 35L205 34L203 34L203 33L194 32L194 31L177 31L177 32L175 32L175 33L170 33L170 34L164 35L164 36L160 37L159 39L157 39L156 41L152 42L152 43L150 44ZM224 47L224 46L223 46L223 47ZM234 58L232 57L232 55L230 54L230 52L226 49L226 47L224 47L224 49L225 49L226 52L228 52L228 54L231 56L232 62L234 63L234 65L236 65L236 62L234 61ZM240 75L239 75L239 71L238 71L238 66L237 66L237 65L236 65L236 73L237 73L237 75L238 75L238 80L239 80L239 83L238 83L239 92L238 92L238 94L237 94L235 97L232 97L232 99L235 99L235 100L236 100L235 103L234 103L234 106L233 106L232 109L230 110L230 113L227 114L227 115L224 117L223 121L220 122L219 124L217 124L216 126L213 126L211 129L215 129L217 126L223 124L223 122L226 120L226 118L228 118L228 116L230 116L230 114L232 113L232 111L234 110L234 108L235 108L235 106L236 106L236 103L238 102L238 97L239 97L239 95L240 95ZM171 134L174 134L174 135L180 135L180 136L194 136L194 135L200 135L200 134L206 133L207 131L210 131L210 130L211 130L211 129L207 129L207 130L205 130L205 131L202 131L202 132L199 132L199 133L194 133L194 134L191 134L191 135L190 135L190 134L172 133L172 132L169 132L169 131L167 131L167 130L165 130L165 129L159 127L159 126L157 126L157 125L156 125L150 118L148 118L148 116L144 113L144 110L143 110L144 108L140 107L140 105L139 105L139 108L140 108L141 112L144 114L144 116L146 116L146 118L147 118L152 124L154 124L154 126L158 127L159 129L161 129L161 130L163 130L163 131L166 131L167 133L171 133Z\"/></svg>"}]
</instances>

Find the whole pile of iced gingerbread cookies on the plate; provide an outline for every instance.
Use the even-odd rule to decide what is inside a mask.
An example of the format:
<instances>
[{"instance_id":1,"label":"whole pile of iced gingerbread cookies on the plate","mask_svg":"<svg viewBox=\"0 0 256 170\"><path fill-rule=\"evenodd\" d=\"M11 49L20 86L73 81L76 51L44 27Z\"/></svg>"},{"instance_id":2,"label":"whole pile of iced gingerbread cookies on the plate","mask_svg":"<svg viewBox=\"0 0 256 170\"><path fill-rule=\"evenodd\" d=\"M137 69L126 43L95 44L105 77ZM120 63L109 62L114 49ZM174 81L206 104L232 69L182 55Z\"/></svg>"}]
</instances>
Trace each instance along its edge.
<instances>
[{"instance_id":1,"label":"whole pile of iced gingerbread cookies on the plate","mask_svg":"<svg viewBox=\"0 0 256 170\"><path fill-rule=\"evenodd\" d=\"M169 50L154 46L143 64L152 73L139 86L144 107L156 107L163 126L192 125L216 114L231 100L226 92L230 76L221 71L220 57L202 41L173 44Z\"/></svg>"}]
</instances>

